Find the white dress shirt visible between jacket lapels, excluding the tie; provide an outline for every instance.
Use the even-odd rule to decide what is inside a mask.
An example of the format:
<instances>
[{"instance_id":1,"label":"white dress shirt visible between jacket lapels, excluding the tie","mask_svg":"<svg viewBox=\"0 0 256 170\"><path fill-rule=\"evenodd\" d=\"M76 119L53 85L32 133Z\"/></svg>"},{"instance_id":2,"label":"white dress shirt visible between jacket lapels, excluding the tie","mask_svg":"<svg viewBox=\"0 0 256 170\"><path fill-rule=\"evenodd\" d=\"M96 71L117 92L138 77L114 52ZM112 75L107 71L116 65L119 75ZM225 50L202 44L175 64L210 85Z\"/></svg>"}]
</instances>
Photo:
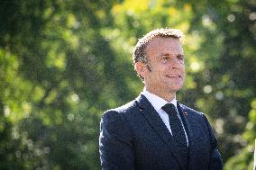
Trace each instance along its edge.
<instances>
[{"instance_id":1,"label":"white dress shirt visible between jacket lapels, excluding the tie","mask_svg":"<svg viewBox=\"0 0 256 170\"><path fill-rule=\"evenodd\" d=\"M145 88L143 89L142 94L149 100L149 102L152 104L152 106L154 107L156 112L159 113L161 120L164 122L165 126L167 127L170 134L172 135L171 129L169 127L169 115L168 115L167 112L164 112L164 110L161 109L161 107L164 106L165 104L167 104L168 102L166 100L160 98L160 96L158 96L156 94L151 94ZM178 112L176 96L174 97L174 99L170 103L175 105L176 112ZM184 130L184 133L185 133L185 136L186 136L186 139L187 139L187 132L184 129L184 125L183 125L183 122L181 121L181 118L180 118L179 114L178 114L178 118L179 118L179 120L182 124L182 128ZM188 139L187 139L187 146L188 146Z\"/></svg>"}]
</instances>

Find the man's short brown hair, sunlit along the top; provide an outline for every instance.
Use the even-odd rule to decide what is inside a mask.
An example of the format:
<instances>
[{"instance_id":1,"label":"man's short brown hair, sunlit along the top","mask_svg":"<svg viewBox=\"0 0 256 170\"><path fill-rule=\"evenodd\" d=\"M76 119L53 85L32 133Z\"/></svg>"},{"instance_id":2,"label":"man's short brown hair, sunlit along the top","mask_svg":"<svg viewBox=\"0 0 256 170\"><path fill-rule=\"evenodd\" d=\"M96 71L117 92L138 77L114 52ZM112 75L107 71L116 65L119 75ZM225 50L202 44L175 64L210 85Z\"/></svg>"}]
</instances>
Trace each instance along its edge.
<instances>
[{"instance_id":1,"label":"man's short brown hair, sunlit along the top","mask_svg":"<svg viewBox=\"0 0 256 170\"><path fill-rule=\"evenodd\" d=\"M179 42L182 44L184 40L184 34L182 31L178 29L156 29L153 31L150 31L146 35L142 37L142 39L139 39L134 51L133 51L133 64L136 62L142 62L147 63L148 59L146 58L146 46L147 44L153 40L155 37L171 37L178 39Z\"/></svg>"}]
</instances>

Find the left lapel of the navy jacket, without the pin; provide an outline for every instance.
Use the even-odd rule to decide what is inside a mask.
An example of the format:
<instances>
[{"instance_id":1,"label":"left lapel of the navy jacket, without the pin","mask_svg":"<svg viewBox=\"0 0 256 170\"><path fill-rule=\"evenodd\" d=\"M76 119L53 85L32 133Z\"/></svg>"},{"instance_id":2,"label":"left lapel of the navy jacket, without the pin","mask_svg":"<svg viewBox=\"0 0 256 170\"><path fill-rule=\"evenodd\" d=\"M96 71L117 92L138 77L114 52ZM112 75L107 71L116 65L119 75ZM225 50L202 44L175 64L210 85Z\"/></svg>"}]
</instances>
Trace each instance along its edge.
<instances>
[{"instance_id":1,"label":"left lapel of the navy jacket, without the pin","mask_svg":"<svg viewBox=\"0 0 256 170\"><path fill-rule=\"evenodd\" d=\"M160 119L159 113L154 110L153 106L144 95L141 94L136 101L141 109L142 115L151 124L152 129L159 134L160 139L162 139L168 146L169 150L177 159L178 164L182 167L182 169L186 169L181 161L182 159L179 155L178 147L176 146L176 143L164 122Z\"/></svg>"}]
</instances>

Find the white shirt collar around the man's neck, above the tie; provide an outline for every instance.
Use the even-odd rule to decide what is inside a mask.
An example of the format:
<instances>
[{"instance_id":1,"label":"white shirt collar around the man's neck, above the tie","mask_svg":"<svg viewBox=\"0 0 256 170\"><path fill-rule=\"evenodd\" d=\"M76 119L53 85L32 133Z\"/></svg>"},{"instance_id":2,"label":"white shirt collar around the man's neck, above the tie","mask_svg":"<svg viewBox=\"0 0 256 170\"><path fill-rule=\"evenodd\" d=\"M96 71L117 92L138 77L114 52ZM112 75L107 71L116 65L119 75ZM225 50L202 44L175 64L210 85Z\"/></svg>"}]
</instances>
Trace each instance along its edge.
<instances>
[{"instance_id":1,"label":"white shirt collar around the man's neck, above the tie","mask_svg":"<svg viewBox=\"0 0 256 170\"><path fill-rule=\"evenodd\" d=\"M149 100L149 102L152 104L154 109L159 112L161 107L164 106L165 104L169 103L166 100L160 98L160 96L156 94L151 94L149 91L146 90L146 88L143 89L142 94ZM170 101L170 103L174 104L175 107L177 108L177 100L176 96L174 96L173 100Z\"/></svg>"}]
</instances>

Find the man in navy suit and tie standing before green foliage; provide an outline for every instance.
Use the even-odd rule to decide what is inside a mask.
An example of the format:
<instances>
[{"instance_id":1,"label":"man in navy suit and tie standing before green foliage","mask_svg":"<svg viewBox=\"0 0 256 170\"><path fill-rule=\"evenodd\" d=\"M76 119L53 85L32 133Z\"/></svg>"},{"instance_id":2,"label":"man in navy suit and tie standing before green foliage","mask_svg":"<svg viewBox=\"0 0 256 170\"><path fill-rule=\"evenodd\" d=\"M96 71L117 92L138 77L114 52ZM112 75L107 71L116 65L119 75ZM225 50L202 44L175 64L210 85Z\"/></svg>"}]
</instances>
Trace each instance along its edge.
<instances>
[{"instance_id":1,"label":"man in navy suit and tie standing before green foliage","mask_svg":"<svg viewBox=\"0 0 256 170\"><path fill-rule=\"evenodd\" d=\"M183 34L154 30L135 46L142 94L106 111L99 151L103 170L219 170L221 156L206 116L178 103L185 79Z\"/></svg>"}]
</instances>

